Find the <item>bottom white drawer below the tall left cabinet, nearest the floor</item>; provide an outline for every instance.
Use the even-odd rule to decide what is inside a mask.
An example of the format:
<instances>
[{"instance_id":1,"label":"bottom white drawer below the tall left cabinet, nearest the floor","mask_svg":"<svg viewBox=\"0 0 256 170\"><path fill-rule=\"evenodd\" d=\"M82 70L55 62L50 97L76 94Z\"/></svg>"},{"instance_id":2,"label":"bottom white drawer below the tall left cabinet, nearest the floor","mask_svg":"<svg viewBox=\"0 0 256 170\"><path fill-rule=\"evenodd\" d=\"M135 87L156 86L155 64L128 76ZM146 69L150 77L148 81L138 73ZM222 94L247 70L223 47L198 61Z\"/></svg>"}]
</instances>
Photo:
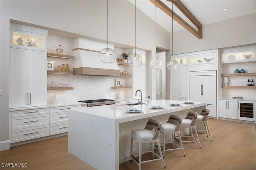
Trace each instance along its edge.
<instances>
[{"instance_id":1,"label":"bottom white drawer below the tall left cabinet, nearest the floor","mask_svg":"<svg viewBox=\"0 0 256 170\"><path fill-rule=\"evenodd\" d=\"M14 130L11 143L49 136L49 125Z\"/></svg>"}]
</instances>

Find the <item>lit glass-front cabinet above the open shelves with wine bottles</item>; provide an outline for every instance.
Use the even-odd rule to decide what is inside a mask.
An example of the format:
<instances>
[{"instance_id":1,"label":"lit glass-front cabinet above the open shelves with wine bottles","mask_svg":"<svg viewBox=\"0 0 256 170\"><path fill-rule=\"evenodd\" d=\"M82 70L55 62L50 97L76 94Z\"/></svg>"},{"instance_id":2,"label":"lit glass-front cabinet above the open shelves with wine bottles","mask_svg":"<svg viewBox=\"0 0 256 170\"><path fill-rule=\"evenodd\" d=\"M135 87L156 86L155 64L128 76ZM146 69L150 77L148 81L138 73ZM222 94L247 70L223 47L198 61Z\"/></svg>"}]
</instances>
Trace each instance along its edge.
<instances>
[{"instance_id":1,"label":"lit glass-front cabinet above the open shelves with wine bottles","mask_svg":"<svg viewBox=\"0 0 256 170\"><path fill-rule=\"evenodd\" d=\"M221 53L221 63L256 61L255 49Z\"/></svg>"}]
</instances>

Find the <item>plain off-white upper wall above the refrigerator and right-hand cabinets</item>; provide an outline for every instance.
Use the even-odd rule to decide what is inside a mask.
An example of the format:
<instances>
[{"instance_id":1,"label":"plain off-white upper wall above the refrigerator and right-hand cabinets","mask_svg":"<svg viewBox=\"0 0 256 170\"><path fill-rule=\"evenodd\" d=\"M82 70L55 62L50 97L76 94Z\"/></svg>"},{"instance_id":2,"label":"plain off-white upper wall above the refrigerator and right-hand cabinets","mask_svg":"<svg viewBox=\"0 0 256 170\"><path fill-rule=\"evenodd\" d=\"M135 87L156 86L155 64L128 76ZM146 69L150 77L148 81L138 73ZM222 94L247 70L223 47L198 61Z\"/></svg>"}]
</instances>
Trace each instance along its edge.
<instances>
[{"instance_id":1,"label":"plain off-white upper wall above the refrigerator and right-hand cabinets","mask_svg":"<svg viewBox=\"0 0 256 170\"><path fill-rule=\"evenodd\" d=\"M256 43L256 13L203 25L202 39L187 30L175 32L173 38L174 54L253 44Z\"/></svg>"}]
</instances>

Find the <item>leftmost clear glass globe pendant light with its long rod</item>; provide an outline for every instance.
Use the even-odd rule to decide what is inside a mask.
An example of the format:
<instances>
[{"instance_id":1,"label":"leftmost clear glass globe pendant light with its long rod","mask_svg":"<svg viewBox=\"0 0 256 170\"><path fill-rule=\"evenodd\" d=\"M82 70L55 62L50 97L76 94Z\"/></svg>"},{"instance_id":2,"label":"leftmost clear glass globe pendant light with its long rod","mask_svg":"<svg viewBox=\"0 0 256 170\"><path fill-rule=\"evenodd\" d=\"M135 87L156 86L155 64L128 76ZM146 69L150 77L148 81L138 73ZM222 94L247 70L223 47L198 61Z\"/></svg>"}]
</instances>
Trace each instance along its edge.
<instances>
[{"instance_id":1,"label":"leftmost clear glass globe pendant light with its long rod","mask_svg":"<svg viewBox=\"0 0 256 170\"><path fill-rule=\"evenodd\" d=\"M108 31L108 28L107 28ZM104 48L100 51L100 61L102 63L113 63L116 60L116 55L113 49L108 48L108 43L107 43L107 48Z\"/></svg>"}]
</instances>

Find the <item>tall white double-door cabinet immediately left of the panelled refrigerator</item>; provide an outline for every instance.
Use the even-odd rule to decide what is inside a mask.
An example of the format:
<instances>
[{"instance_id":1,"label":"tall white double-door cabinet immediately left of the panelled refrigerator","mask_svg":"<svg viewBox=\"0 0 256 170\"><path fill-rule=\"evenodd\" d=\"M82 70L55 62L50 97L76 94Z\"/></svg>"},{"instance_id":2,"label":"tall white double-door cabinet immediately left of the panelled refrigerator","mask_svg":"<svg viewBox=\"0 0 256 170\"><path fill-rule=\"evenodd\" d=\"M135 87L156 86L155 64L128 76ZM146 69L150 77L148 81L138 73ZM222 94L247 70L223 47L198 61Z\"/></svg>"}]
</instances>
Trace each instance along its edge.
<instances>
[{"instance_id":1,"label":"tall white double-door cabinet immediately left of the panelled refrigerator","mask_svg":"<svg viewBox=\"0 0 256 170\"><path fill-rule=\"evenodd\" d=\"M188 66L172 70L172 100L188 100Z\"/></svg>"}]
</instances>

